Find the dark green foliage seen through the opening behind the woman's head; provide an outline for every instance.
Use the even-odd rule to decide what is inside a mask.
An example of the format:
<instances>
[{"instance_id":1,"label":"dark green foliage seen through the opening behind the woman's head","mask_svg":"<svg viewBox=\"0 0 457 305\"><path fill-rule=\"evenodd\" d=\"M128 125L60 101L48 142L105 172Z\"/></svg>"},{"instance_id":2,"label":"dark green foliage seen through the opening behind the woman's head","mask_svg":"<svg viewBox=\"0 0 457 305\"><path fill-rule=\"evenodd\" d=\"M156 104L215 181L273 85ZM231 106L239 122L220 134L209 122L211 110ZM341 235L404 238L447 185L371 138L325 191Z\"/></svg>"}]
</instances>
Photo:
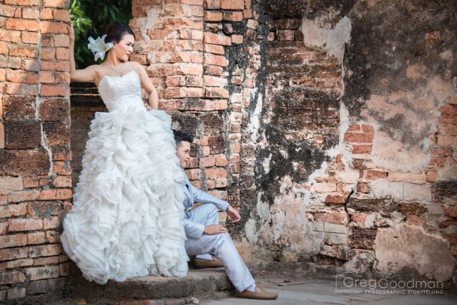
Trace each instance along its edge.
<instances>
[{"instance_id":1,"label":"dark green foliage seen through the opening behind the woman's head","mask_svg":"<svg viewBox=\"0 0 457 305\"><path fill-rule=\"evenodd\" d=\"M106 26L112 22L128 25L132 19L132 0L72 0L68 10L75 29L76 69L84 69L95 63L87 48L89 36L102 37Z\"/></svg>"}]
</instances>

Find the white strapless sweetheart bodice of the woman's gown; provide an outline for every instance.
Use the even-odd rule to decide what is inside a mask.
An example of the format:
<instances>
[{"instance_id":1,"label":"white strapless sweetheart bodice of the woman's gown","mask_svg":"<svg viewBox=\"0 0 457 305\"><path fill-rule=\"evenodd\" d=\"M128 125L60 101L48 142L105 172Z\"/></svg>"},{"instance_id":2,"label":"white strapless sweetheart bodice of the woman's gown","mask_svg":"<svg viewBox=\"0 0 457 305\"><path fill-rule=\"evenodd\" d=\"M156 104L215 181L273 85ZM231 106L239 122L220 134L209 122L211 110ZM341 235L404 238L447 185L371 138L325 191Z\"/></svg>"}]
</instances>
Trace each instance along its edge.
<instances>
[{"instance_id":1,"label":"white strapless sweetheart bodice of the woman's gown","mask_svg":"<svg viewBox=\"0 0 457 305\"><path fill-rule=\"evenodd\" d=\"M134 70L123 76L105 75L99 92L109 112L128 106L144 107L140 76Z\"/></svg>"}]
</instances>

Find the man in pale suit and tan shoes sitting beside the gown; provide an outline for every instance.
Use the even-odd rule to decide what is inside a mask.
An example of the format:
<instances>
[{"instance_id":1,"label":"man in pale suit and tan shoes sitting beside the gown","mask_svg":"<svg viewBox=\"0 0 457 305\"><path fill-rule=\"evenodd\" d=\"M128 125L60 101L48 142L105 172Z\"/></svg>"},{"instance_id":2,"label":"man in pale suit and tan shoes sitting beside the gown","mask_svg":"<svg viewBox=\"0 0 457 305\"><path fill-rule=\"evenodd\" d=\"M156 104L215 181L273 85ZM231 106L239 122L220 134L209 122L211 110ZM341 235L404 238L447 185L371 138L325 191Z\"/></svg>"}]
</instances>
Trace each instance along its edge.
<instances>
[{"instance_id":1,"label":"man in pale suit and tan shoes sitting beside the gown","mask_svg":"<svg viewBox=\"0 0 457 305\"><path fill-rule=\"evenodd\" d=\"M180 165L185 168L190 159L190 144L193 142L193 137L190 133L180 130L173 130L173 133ZM228 278L238 291L238 297L277 298L277 293L265 291L262 287L255 285L255 281L238 254L227 229L219 225L218 209L225 211L233 222L241 219L240 214L227 201L191 185L184 171L182 173L185 180L184 229L187 236L185 244L187 255L197 255L194 264L199 267L223 266ZM216 255L220 261L209 254Z\"/></svg>"}]
</instances>

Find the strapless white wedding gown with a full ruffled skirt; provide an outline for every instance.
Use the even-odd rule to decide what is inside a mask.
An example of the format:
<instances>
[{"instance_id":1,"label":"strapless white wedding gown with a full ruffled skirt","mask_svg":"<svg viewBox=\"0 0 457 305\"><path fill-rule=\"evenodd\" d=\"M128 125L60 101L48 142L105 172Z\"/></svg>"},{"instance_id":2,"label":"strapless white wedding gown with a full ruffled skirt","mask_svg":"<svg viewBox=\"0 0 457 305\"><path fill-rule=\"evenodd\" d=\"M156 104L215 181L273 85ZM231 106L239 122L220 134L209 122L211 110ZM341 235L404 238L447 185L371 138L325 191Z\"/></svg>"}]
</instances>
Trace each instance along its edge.
<instances>
[{"instance_id":1,"label":"strapless white wedding gown with a full ruffled skirt","mask_svg":"<svg viewBox=\"0 0 457 305\"><path fill-rule=\"evenodd\" d=\"M91 122L62 246L99 284L185 276L184 179L171 117L146 111L135 71L103 77L99 92L109 112Z\"/></svg>"}]
</instances>

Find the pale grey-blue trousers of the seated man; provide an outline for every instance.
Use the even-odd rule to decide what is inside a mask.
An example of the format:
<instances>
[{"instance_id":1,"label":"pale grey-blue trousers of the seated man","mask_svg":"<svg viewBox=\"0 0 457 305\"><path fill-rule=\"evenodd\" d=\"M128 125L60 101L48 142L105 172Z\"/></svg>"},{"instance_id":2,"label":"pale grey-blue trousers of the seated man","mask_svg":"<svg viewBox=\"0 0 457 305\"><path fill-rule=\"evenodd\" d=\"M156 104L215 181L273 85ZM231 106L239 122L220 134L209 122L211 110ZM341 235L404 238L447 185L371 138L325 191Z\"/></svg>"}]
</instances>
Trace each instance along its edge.
<instances>
[{"instance_id":1,"label":"pale grey-blue trousers of the seated man","mask_svg":"<svg viewBox=\"0 0 457 305\"><path fill-rule=\"evenodd\" d=\"M188 215L193 222L204 225L219 224L219 213L214 204L203 204L192 210ZM189 256L216 255L224 265L228 279L239 292L255 283L228 233L203 234L200 239L188 237L185 247Z\"/></svg>"}]
</instances>

